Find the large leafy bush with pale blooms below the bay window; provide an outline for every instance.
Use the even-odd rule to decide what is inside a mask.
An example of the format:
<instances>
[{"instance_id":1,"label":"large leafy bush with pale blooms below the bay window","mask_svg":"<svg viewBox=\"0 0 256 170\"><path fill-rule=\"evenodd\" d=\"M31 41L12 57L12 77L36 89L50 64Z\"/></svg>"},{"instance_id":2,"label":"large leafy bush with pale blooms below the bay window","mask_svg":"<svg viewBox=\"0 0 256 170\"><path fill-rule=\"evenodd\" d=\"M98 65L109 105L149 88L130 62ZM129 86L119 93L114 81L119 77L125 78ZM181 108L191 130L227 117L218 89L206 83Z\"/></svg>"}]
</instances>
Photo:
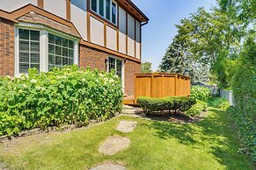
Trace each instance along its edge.
<instances>
[{"instance_id":1,"label":"large leafy bush with pale blooms below the bay window","mask_svg":"<svg viewBox=\"0 0 256 170\"><path fill-rule=\"evenodd\" d=\"M121 80L90 68L64 67L0 79L0 135L61 124L87 124L121 111Z\"/></svg>"}]
</instances>

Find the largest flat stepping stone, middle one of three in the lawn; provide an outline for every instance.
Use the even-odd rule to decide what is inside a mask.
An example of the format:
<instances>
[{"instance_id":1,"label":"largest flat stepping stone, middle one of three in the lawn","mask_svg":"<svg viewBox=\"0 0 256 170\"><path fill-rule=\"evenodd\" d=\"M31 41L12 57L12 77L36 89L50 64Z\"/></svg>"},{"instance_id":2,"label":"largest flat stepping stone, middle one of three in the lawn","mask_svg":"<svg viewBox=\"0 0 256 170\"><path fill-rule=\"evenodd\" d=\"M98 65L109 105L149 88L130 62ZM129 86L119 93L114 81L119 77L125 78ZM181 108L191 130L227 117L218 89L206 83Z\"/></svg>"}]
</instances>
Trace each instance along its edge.
<instances>
[{"instance_id":1,"label":"largest flat stepping stone, middle one of three in the lawn","mask_svg":"<svg viewBox=\"0 0 256 170\"><path fill-rule=\"evenodd\" d=\"M99 152L107 155L113 155L128 148L130 140L128 138L121 138L118 136L107 138L103 145L99 147Z\"/></svg>"}]
</instances>

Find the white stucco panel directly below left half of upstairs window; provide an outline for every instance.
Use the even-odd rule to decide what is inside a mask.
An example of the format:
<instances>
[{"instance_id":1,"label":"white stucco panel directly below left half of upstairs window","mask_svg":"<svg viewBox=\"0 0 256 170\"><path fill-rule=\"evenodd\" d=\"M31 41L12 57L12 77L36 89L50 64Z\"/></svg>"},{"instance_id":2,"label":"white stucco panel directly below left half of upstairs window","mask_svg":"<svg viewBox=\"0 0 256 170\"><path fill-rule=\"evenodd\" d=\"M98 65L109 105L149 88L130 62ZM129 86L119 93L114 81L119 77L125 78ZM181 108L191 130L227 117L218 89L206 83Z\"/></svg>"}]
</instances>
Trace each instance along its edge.
<instances>
[{"instance_id":1,"label":"white stucco panel directly below left half of upstairs window","mask_svg":"<svg viewBox=\"0 0 256 170\"><path fill-rule=\"evenodd\" d=\"M104 46L104 24L98 19L91 17L91 42Z\"/></svg>"}]
</instances>

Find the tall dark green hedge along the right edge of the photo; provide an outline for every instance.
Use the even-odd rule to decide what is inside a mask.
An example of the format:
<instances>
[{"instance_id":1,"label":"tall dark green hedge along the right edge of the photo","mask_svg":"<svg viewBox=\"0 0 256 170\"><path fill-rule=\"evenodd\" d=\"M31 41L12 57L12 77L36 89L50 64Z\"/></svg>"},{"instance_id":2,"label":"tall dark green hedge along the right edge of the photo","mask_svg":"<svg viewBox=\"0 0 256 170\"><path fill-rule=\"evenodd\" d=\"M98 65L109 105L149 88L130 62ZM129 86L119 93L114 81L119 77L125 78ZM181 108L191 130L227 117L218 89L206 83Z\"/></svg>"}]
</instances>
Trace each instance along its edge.
<instances>
[{"instance_id":1,"label":"tall dark green hedge along the right edge of the photo","mask_svg":"<svg viewBox=\"0 0 256 170\"><path fill-rule=\"evenodd\" d=\"M254 32L246 39L240 53L238 69L233 77L232 91L236 108L230 109L238 132L250 149L256 162L256 44Z\"/></svg>"}]
</instances>

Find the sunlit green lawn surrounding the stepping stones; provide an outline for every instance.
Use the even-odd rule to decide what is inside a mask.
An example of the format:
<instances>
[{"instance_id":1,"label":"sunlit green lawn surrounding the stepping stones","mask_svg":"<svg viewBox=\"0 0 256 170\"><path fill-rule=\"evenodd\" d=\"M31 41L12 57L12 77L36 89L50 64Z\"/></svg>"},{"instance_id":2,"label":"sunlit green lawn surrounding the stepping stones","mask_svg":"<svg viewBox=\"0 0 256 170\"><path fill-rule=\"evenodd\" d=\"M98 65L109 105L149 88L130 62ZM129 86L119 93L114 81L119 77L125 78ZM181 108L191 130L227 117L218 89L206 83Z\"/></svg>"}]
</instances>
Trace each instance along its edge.
<instances>
[{"instance_id":1,"label":"sunlit green lawn surrounding the stepping stones","mask_svg":"<svg viewBox=\"0 0 256 170\"><path fill-rule=\"evenodd\" d=\"M114 130L120 120L138 126L123 134ZM112 135L130 138L129 148L113 156L99 153L99 145ZM0 162L10 169L88 169L103 162L139 170L253 169L252 159L238 153L230 118L216 109L194 124L115 117L76 131L18 138L7 146L0 144Z\"/></svg>"}]
</instances>

